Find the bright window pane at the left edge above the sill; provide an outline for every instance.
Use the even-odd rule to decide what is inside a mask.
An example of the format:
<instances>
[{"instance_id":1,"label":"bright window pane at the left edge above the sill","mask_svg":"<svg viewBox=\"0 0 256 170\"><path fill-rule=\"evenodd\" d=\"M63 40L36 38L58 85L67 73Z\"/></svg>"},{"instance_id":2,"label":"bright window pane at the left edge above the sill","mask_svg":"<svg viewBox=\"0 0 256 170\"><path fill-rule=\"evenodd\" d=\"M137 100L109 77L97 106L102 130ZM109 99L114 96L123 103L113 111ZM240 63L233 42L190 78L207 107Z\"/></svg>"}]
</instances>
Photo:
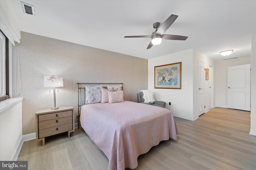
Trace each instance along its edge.
<instances>
[{"instance_id":1,"label":"bright window pane at the left edge above the sill","mask_svg":"<svg viewBox=\"0 0 256 170\"><path fill-rule=\"evenodd\" d=\"M0 97L6 95L6 40L0 31Z\"/></svg>"}]
</instances>

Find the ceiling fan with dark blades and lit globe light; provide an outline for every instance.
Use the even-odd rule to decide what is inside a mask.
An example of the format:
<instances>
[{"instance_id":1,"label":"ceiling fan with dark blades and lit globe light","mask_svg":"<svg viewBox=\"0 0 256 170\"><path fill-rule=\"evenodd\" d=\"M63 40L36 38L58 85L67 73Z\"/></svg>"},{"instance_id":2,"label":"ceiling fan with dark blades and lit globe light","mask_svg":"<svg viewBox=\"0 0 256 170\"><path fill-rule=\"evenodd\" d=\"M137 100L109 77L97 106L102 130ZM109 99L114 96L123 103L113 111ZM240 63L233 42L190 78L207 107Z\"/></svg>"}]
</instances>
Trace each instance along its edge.
<instances>
[{"instance_id":1,"label":"ceiling fan with dark blades and lit globe light","mask_svg":"<svg viewBox=\"0 0 256 170\"><path fill-rule=\"evenodd\" d=\"M124 38L151 38L147 49L150 49L153 45L160 44L162 42L162 39L186 40L188 38L186 36L163 34L177 18L178 16L176 15L169 16L169 18L167 18L167 20L164 21L164 23L160 27L159 22L154 23L153 27L156 29L156 31L154 31L152 35L125 36Z\"/></svg>"}]
</instances>

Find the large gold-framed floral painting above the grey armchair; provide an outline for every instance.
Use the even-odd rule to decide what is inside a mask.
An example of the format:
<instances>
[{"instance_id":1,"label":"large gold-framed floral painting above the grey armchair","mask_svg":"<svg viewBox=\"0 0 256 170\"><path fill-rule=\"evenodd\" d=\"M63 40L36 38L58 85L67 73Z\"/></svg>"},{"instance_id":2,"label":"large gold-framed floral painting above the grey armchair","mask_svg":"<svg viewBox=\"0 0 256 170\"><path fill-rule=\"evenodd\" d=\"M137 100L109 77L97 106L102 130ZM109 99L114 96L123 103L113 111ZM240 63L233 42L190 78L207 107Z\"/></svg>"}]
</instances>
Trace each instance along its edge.
<instances>
[{"instance_id":1,"label":"large gold-framed floral painting above the grey armchair","mask_svg":"<svg viewBox=\"0 0 256 170\"><path fill-rule=\"evenodd\" d=\"M155 88L181 89L182 62L155 66Z\"/></svg>"}]
</instances>

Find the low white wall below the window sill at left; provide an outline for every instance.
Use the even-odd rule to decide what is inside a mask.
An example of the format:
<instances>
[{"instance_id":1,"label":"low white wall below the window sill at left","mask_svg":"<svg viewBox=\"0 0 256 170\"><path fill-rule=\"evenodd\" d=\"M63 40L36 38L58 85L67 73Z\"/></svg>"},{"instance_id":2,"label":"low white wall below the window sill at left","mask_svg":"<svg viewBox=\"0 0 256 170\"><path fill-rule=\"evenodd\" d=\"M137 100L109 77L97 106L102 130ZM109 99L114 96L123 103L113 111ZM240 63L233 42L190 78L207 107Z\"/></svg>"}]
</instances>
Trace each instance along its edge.
<instances>
[{"instance_id":1,"label":"low white wall below the window sill at left","mask_svg":"<svg viewBox=\"0 0 256 170\"><path fill-rule=\"evenodd\" d=\"M10 161L22 139L22 98L4 100L0 108L0 160Z\"/></svg>"}]
</instances>

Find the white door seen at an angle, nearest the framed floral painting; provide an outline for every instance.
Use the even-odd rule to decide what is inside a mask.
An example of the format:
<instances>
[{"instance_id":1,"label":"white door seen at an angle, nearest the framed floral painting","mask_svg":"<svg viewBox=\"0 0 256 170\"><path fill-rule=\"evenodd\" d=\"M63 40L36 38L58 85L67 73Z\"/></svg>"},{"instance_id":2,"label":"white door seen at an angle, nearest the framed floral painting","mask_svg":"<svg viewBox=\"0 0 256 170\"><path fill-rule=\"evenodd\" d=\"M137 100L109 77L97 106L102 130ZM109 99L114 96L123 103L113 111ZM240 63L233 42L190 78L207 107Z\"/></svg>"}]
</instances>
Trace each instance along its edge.
<instances>
[{"instance_id":1,"label":"white door seen at an angle, nearest the framed floral painting","mask_svg":"<svg viewBox=\"0 0 256 170\"><path fill-rule=\"evenodd\" d=\"M198 104L199 111L198 116L204 113L204 82L205 82L205 64L202 61L198 61Z\"/></svg>"}]
</instances>

